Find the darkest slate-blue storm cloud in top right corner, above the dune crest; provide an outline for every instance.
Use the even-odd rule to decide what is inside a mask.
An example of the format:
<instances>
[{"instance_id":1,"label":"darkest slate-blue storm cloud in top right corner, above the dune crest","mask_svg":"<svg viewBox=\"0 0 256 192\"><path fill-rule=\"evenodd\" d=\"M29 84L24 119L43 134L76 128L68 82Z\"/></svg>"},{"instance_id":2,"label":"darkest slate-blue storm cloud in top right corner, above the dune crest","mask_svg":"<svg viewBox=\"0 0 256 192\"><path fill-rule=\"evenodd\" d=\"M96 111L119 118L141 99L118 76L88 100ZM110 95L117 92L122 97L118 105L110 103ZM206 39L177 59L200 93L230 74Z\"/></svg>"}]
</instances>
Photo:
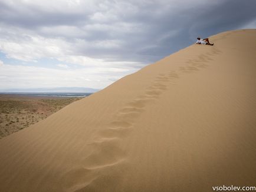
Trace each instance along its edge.
<instances>
[{"instance_id":1,"label":"darkest slate-blue storm cloud in top right corner, above the dune crest","mask_svg":"<svg viewBox=\"0 0 256 192\"><path fill-rule=\"evenodd\" d=\"M204 35L209 36L218 32L241 28L256 19L255 7L256 1L254 0L229 0L217 5L214 9L208 7L203 15L196 18L198 23L192 25L191 36L201 31Z\"/></svg>"}]
</instances>

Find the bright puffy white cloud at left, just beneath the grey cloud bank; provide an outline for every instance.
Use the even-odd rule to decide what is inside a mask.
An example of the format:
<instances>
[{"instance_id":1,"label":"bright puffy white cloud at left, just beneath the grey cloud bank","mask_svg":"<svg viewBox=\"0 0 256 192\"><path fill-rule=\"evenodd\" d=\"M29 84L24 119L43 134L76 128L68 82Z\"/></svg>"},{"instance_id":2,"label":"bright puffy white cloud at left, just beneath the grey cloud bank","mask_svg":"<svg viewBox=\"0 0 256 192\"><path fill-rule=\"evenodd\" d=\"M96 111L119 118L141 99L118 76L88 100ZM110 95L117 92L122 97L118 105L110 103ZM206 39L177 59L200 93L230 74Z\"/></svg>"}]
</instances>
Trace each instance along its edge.
<instances>
[{"instance_id":1,"label":"bright puffy white cloud at left, just beneath the grey cloud bank","mask_svg":"<svg viewBox=\"0 0 256 192\"><path fill-rule=\"evenodd\" d=\"M27 29L9 28L0 31L0 51L8 58L21 61L34 61L42 58L55 58L59 61L77 65L104 65L104 58L97 59L77 54L79 49L111 49L122 46L117 39L96 40L88 42L86 39L75 38L73 42L65 38L46 38ZM52 28L54 31L54 27ZM57 30L58 31L58 30ZM6 38L8 34L8 38ZM122 62L122 61L121 61Z\"/></svg>"}]
</instances>

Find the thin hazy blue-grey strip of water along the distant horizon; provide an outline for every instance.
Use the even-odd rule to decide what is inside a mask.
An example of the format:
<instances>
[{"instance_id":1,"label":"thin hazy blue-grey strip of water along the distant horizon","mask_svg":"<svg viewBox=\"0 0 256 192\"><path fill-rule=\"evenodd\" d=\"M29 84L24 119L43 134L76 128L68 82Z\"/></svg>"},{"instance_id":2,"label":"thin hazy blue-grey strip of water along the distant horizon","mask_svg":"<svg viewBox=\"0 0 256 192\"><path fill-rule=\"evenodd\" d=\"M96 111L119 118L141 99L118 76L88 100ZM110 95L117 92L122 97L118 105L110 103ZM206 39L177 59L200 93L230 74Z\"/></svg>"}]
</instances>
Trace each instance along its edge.
<instances>
[{"instance_id":1,"label":"thin hazy blue-grey strip of water along the distant horizon","mask_svg":"<svg viewBox=\"0 0 256 192\"><path fill-rule=\"evenodd\" d=\"M0 94L12 94L32 97L86 97L93 94L92 92L0 92Z\"/></svg>"}]
</instances>

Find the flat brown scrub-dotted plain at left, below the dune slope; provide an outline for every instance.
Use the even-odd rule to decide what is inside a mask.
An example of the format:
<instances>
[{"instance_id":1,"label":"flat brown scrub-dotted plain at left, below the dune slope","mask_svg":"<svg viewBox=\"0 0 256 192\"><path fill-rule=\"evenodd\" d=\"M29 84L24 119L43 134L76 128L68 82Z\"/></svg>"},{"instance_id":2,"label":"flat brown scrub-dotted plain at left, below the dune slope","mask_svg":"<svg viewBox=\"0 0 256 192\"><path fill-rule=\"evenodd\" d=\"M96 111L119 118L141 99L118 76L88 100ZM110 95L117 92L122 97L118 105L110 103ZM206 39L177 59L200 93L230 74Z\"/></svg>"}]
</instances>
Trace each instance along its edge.
<instances>
[{"instance_id":1,"label":"flat brown scrub-dotted plain at left, below the dune slope","mask_svg":"<svg viewBox=\"0 0 256 192\"><path fill-rule=\"evenodd\" d=\"M0 139L44 120L81 97L0 94Z\"/></svg>"}]
</instances>

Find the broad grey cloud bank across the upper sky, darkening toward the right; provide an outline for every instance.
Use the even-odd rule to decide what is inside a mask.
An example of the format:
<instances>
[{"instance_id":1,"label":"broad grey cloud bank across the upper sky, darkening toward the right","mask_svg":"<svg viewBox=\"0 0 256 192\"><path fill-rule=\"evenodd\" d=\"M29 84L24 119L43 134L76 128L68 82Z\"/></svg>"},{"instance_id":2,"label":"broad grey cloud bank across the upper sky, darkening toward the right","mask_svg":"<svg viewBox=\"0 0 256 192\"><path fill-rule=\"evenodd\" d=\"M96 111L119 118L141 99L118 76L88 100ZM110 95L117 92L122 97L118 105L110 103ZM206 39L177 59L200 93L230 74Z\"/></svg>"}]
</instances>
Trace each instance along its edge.
<instances>
[{"instance_id":1,"label":"broad grey cloud bank across the upper sky, darkening toward the right","mask_svg":"<svg viewBox=\"0 0 256 192\"><path fill-rule=\"evenodd\" d=\"M192 44L198 35L242 28L256 19L255 0L96 1L67 11L6 2L0 2L0 23L5 27L65 39L74 44L73 55L143 64Z\"/></svg>"}]
</instances>

